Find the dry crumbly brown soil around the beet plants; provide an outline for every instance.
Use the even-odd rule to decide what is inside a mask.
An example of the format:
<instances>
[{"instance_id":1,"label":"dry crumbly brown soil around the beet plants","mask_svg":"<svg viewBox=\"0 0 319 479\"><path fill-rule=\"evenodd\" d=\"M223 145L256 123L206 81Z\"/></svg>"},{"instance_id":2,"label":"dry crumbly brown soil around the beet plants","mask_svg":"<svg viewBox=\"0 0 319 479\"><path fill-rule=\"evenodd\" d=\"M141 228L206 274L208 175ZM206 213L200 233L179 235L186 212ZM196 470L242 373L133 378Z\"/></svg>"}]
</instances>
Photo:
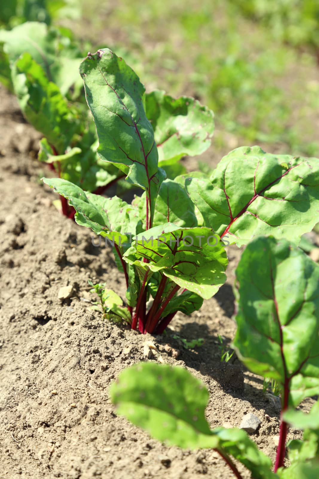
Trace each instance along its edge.
<instances>
[{"instance_id":1,"label":"dry crumbly brown soil around the beet plants","mask_svg":"<svg viewBox=\"0 0 319 479\"><path fill-rule=\"evenodd\" d=\"M247 412L258 416L262 424L252 438L274 460L279 411L263 394L262 378L235 357L229 367L220 363L217 335L230 342L235 331L231 284L240 251L228 249L228 281L220 292L191 317L179 313L167 335L144 336L104 321L90 309L88 279L124 294L112 254L57 212L55 194L39 181L38 134L3 90L0 105L0 478L231 477L214 451L165 447L115 414L109 386L124 367L145 360L146 340L165 361L204 381L211 427L239 426ZM61 301L66 285L73 285L73 297ZM176 334L205 343L186 350ZM300 433L290 431L293 437Z\"/></svg>"}]
</instances>

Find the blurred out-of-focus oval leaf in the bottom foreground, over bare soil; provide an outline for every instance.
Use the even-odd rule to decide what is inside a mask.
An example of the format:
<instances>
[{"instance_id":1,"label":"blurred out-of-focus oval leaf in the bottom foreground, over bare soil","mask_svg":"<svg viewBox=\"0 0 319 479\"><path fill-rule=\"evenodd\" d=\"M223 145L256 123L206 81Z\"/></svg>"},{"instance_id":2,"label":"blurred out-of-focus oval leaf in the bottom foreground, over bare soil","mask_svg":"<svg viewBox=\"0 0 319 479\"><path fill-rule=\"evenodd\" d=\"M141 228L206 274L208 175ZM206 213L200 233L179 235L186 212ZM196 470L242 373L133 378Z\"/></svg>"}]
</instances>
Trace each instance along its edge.
<instances>
[{"instance_id":1,"label":"blurred out-of-focus oval leaf in the bottom foreground, over bare soil","mask_svg":"<svg viewBox=\"0 0 319 479\"><path fill-rule=\"evenodd\" d=\"M239 429L209 429L209 393L187 369L140 363L121 372L110 388L116 412L168 445L214 448L249 468L255 479L275 479L269 457Z\"/></svg>"}]
</instances>

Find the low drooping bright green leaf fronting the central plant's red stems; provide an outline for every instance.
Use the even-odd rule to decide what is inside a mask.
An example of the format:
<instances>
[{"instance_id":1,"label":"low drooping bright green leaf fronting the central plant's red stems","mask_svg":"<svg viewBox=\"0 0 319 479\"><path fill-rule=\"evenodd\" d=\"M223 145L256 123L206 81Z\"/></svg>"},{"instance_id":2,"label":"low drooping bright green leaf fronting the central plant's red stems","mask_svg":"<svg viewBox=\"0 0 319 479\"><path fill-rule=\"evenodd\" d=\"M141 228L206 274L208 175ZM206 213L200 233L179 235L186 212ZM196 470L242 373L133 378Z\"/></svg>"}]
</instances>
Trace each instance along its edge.
<instances>
[{"instance_id":1,"label":"low drooping bright green leaf fronting the central plant's red stems","mask_svg":"<svg viewBox=\"0 0 319 479\"><path fill-rule=\"evenodd\" d=\"M123 259L144 271L160 271L204 299L212 297L226 280L226 251L209 228L156 226L135 238Z\"/></svg>"}]
</instances>

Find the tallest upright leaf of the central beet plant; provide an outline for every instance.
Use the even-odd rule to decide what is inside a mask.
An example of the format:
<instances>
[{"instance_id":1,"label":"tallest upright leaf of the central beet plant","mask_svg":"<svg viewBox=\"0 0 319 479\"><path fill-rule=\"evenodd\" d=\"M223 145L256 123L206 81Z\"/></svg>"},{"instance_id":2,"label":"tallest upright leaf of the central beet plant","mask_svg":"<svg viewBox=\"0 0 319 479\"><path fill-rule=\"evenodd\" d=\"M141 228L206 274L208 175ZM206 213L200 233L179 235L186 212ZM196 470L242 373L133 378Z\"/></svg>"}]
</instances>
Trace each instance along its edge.
<instances>
[{"instance_id":1,"label":"tallest upright leaf of the central beet plant","mask_svg":"<svg viewBox=\"0 0 319 479\"><path fill-rule=\"evenodd\" d=\"M97 129L99 157L116 164L128 182L146 191L153 217L154 199L165 172L158 171L154 132L144 111L144 86L132 68L108 48L89 53L80 74Z\"/></svg>"}]
</instances>

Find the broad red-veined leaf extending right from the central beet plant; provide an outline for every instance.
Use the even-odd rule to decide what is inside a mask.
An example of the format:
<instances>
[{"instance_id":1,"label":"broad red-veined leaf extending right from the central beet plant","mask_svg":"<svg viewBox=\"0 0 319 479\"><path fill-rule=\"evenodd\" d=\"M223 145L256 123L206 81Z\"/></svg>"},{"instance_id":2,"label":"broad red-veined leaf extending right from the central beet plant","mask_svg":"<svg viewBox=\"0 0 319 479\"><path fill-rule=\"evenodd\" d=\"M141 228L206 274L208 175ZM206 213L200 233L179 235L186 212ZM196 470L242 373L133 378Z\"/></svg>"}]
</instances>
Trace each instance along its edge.
<instances>
[{"instance_id":1,"label":"broad red-veined leaf extending right from the central beet plant","mask_svg":"<svg viewBox=\"0 0 319 479\"><path fill-rule=\"evenodd\" d=\"M189 178L186 188L205 226L238 246L263 234L298 243L319 221L316 158L237 148L220 161L210 180Z\"/></svg>"}]
</instances>

